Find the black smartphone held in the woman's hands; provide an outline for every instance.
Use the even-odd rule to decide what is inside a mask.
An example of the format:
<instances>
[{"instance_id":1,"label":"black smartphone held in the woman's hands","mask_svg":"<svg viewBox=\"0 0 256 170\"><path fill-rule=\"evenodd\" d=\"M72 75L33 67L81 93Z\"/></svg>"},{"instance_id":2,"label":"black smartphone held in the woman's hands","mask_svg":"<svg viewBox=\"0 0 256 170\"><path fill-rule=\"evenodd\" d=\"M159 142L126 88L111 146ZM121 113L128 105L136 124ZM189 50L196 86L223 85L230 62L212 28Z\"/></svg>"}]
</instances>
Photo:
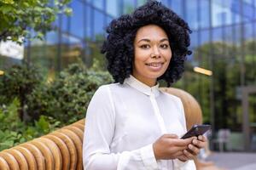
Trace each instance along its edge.
<instances>
[{"instance_id":1,"label":"black smartphone held in the woman's hands","mask_svg":"<svg viewBox=\"0 0 256 170\"><path fill-rule=\"evenodd\" d=\"M194 125L190 130L181 137L181 139L187 139L192 136L199 136L206 133L211 128L211 125Z\"/></svg>"}]
</instances>

